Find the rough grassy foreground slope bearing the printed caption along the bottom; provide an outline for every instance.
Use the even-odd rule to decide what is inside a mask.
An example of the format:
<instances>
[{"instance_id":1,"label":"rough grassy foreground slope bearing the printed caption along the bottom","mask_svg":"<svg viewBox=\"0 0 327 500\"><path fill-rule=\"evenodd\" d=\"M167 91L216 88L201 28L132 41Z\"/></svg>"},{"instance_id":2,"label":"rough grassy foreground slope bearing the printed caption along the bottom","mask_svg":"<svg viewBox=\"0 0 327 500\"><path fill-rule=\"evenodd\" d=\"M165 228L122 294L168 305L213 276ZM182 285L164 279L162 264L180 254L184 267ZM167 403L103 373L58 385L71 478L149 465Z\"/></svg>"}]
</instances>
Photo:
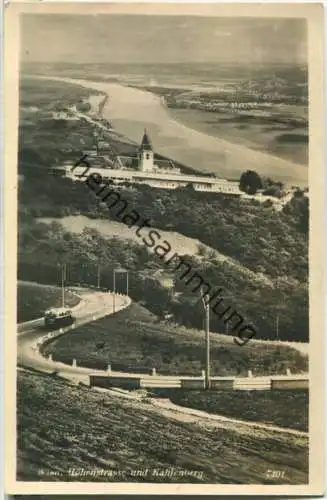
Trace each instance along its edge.
<instances>
[{"instance_id":1,"label":"rough grassy foreground slope bearing the printed caption along the bottom","mask_svg":"<svg viewBox=\"0 0 327 500\"><path fill-rule=\"evenodd\" d=\"M305 438L260 431L254 437L241 426L217 432L153 411L142 403L20 372L19 480L262 484L269 483L267 470L276 468L276 463L285 471L285 479L274 482L308 480ZM154 469L172 467L189 475L153 475ZM70 468L83 468L85 475L72 477ZM98 468L116 469L120 475L87 475ZM145 469L146 478L129 472ZM197 471L200 479L191 471Z\"/></svg>"}]
</instances>

